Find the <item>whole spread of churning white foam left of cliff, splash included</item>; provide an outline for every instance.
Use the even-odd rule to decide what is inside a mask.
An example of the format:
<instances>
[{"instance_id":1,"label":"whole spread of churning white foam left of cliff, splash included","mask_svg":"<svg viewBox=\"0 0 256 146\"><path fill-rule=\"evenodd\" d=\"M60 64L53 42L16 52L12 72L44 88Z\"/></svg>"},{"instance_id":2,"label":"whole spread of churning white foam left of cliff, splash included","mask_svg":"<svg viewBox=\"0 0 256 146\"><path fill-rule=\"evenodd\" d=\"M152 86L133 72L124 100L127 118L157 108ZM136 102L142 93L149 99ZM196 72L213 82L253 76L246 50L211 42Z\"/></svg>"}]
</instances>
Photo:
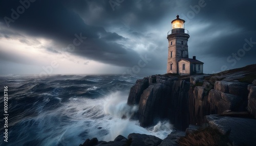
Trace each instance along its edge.
<instances>
[{"instance_id":1,"label":"whole spread of churning white foam left of cliff, splash included","mask_svg":"<svg viewBox=\"0 0 256 146\"><path fill-rule=\"evenodd\" d=\"M48 99L44 100L48 102ZM165 138L172 130L167 122L145 129L138 121L129 120L137 107L126 104L127 93L113 92L105 98L70 98L67 103L52 111L41 111L36 117L26 120L29 131L35 135L23 135L23 140L38 139L41 145L79 145L87 138L114 140L119 134L127 137L130 133L155 135ZM121 117L125 115L126 118ZM33 124L30 124L30 121ZM18 141L17 141L18 142ZM19 141L18 143L22 143Z\"/></svg>"}]
</instances>

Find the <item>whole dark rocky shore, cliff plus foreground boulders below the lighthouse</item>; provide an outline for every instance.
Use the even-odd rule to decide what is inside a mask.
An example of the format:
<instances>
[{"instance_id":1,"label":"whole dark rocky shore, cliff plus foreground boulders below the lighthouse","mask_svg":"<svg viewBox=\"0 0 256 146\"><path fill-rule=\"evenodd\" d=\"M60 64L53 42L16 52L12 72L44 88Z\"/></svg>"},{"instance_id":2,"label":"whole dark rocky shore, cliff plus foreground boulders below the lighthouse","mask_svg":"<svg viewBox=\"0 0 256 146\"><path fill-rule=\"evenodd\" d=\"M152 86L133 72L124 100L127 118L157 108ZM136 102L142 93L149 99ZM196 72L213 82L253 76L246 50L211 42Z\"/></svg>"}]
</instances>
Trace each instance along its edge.
<instances>
[{"instance_id":1,"label":"whole dark rocky shore, cliff plus foreground boulders below the lighthouse","mask_svg":"<svg viewBox=\"0 0 256 146\"><path fill-rule=\"evenodd\" d=\"M226 145L256 145L256 64L213 75L145 77L131 88L127 104L138 105L132 119L142 127L168 119L176 130L163 140L132 133L109 142L87 139L80 145L178 145L180 137L193 135L199 127L227 135Z\"/></svg>"}]
</instances>

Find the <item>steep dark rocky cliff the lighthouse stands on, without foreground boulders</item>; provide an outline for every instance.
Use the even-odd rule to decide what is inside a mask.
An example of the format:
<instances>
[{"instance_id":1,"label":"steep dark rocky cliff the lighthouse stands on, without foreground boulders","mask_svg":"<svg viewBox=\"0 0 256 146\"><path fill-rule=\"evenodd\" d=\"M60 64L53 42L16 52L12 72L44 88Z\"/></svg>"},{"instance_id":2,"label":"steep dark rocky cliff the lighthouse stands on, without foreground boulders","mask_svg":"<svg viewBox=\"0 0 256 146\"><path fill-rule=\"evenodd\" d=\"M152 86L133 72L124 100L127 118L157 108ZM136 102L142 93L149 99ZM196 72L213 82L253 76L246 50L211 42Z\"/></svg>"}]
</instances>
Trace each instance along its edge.
<instances>
[{"instance_id":1,"label":"steep dark rocky cliff the lighthouse stands on, without foreground boulders","mask_svg":"<svg viewBox=\"0 0 256 146\"><path fill-rule=\"evenodd\" d=\"M256 117L256 65L214 75L154 75L131 88L127 104L138 105L133 118L142 127L169 119L175 128L201 125L205 115Z\"/></svg>"}]
</instances>

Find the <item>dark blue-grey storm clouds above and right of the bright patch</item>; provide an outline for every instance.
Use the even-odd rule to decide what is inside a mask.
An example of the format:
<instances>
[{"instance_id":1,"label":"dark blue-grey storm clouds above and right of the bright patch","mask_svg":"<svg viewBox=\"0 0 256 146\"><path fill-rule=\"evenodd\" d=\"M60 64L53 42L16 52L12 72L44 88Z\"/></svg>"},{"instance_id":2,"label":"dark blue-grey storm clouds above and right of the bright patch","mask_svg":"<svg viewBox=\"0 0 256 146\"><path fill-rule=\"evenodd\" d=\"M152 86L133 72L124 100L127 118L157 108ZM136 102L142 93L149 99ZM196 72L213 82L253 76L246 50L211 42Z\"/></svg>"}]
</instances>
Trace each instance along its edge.
<instances>
[{"instance_id":1,"label":"dark blue-grey storm clouds above and right of the bright patch","mask_svg":"<svg viewBox=\"0 0 256 146\"><path fill-rule=\"evenodd\" d=\"M141 59L140 55L147 55L152 61L146 68L156 72L166 68L166 33L177 13L185 16L186 29L190 31L189 56L198 56L205 65L219 65L208 58L224 58L225 64L225 58L243 48L245 39L256 41L255 1L205 0L205 7L199 10L197 5L201 1L124 0L113 9L109 1L37 0L10 22L9 28L4 18L11 18L11 9L16 11L21 4L1 1L0 39L16 37L20 42L32 45L36 41L30 42L21 36L45 37L58 46L47 47L49 52L63 54L61 49L67 48L75 35L81 34L87 39L69 53L125 67L133 67ZM192 18L191 12L194 13ZM169 27L166 32L159 32L162 31L159 27L163 26ZM239 65L255 63L255 47L246 52L246 60Z\"/></svg>"}]
</instances>

